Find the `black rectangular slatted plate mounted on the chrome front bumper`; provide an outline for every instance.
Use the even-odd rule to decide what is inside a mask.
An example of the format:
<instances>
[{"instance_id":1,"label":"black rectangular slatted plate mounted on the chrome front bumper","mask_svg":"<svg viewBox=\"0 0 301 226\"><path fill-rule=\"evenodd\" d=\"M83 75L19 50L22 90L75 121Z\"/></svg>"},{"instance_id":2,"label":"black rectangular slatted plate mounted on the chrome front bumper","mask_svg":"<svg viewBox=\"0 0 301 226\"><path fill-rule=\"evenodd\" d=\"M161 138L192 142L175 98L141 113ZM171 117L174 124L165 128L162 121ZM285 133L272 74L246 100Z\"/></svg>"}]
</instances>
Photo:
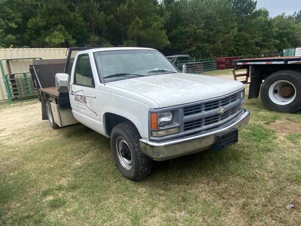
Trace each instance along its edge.
<instances>
[{"instance_id":1,"label":"black rectangular slatted plate mounted on the chrome front bumper","mask_svg":"<svg viewBox=\"0 0 301 226\"><path fill-rule=\"evenodd\" d=\"M222 149L238 142L238 129L232 129L226 133L215 135L216 143L211 148L214 151L221 151Z\"/></svg>"}]
</instances>

